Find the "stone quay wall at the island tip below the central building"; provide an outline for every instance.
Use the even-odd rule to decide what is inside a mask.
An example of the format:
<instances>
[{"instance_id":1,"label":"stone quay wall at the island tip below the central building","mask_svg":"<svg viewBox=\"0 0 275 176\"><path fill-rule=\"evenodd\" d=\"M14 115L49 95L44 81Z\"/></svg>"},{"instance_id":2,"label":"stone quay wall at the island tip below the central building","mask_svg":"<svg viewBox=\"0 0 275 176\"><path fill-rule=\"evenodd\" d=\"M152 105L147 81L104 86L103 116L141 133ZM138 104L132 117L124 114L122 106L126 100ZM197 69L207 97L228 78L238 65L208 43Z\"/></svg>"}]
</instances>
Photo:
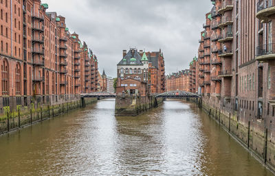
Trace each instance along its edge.
<instances>
[{"instance_id":1,"label":"stone quay wall at the island tip below the central building","mask_svg":"<svg viewBox=\"0 0 275 176\"><path fill-rule=\"evenodd\" d=\"M137 116L157 108L162 104L163 98L156 98L155 96L131 96L131 95L117 95L115 97L115 116Z\"/></svg>"}]
</instances>

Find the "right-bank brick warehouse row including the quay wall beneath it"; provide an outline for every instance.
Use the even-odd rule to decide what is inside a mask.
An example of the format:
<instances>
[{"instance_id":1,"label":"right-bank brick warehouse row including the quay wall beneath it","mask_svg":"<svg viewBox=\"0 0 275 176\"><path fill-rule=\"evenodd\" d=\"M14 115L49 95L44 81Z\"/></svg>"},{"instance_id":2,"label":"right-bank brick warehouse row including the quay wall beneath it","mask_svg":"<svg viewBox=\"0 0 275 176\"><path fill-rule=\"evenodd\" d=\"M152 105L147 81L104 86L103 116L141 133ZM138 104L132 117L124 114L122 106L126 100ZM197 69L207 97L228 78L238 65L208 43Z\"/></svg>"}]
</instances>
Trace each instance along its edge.
<instances>
[{"instance_id":1,"label":"right-bank brick warehouse row including the quay wall beneath it","mask_svg":"<svg viewBox=\"0 0 275 176\"><path fill-rule=\"evenodd\" d=\"M274 170L275 1L211 1L195 66L199 86L190 90Z\"/></svg>"}]
</instances>

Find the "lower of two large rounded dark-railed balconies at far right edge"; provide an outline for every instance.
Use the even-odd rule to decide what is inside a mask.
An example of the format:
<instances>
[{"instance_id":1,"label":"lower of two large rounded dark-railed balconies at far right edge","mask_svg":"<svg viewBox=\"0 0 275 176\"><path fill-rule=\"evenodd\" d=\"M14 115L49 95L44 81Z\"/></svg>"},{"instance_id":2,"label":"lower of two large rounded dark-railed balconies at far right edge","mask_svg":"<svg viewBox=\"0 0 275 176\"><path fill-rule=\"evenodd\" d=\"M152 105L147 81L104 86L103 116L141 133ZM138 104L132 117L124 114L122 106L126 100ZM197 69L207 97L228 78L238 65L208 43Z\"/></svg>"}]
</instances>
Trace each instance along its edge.
<instances>
[{"instance_id":1,"label":"lower of two large rounded dark-railed balconies at far right edge","mask_svg":"<svg viewBox=\"0 0 275 176\"><path fill-rule=\"evenodd\" d=\"M275 59L275 43L260 45L257 47L256 60L271 61Z\"/></svg>"}]
</instances>

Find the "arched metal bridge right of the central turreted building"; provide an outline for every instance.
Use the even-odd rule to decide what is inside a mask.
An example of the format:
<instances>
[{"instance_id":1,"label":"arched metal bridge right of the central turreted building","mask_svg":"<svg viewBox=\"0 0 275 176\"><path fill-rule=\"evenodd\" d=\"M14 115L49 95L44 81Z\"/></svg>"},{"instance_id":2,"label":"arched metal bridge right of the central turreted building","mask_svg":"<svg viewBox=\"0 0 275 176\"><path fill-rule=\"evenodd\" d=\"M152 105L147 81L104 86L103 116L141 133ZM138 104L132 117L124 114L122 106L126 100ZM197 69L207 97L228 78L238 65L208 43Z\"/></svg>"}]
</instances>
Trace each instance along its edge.
<instances>
[{"instance_id":1,"label":"arched metal bridge right of the central turreted building","mask_svg":"<svg viewBox=\"0 0 275 176\"><path fill-rule=\"evenodd\" d=\"M174 91L164 92L162 94L156 95L156 97L163 97L166 99L182 99L182 98L199 98L201 96L192 92L174 90Z\"/></svg>"}]
</instances>

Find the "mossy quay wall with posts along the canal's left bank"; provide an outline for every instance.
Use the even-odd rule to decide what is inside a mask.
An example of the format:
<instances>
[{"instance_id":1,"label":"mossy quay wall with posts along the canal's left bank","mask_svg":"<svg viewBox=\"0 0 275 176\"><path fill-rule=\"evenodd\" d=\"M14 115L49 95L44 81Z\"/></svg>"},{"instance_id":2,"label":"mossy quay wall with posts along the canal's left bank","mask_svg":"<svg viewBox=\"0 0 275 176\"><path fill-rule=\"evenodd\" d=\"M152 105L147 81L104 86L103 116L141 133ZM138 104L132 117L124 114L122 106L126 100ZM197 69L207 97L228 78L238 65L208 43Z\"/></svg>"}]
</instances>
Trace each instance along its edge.
<instances>
[{"instance_id":1,"label":"mossy quay wall with posts along the canal's left bank","mask_svg":"<svg viewBox=\"0 0 275 176\"><path fill-rule=\"evenodd\" d=\"M61 101L61 103L54 105L34 105L34 103L29 107L17 105L15 110L5 107L4 113L0 115L0 135L44 121L47 118L65 114L76 108L83 108L97 101L97 98L82 98L66 103Z\"/></svg>"}]
</instances>

